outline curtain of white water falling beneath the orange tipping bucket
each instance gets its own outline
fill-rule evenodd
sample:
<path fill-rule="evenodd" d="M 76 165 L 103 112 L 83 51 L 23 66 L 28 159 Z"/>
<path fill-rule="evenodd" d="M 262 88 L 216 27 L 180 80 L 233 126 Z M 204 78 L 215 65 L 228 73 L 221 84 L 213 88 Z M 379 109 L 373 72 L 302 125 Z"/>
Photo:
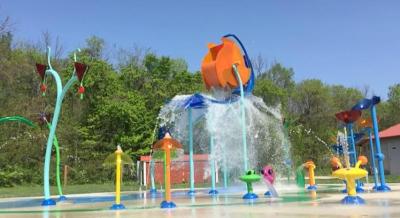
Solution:
<path fill-rule="evenodd" d="M 213 96 L 225 97 L 226 93 L 214 93 Z M 205 96 L 205 95 L 204 95 Z M 160 114 L 160 126 L 165 126 L 172 136 L 188 147 L 188 113 L 182 108 L 182 102 L 188 95 L 175 96 L 165 105 Z M 209 99 L 215 100 L 210 96 Z M 206 101 L 207 107 L 193 108 L 194 153 L 209 153 L 210 135 L 214 139 L 214 149 L 210 158 L 218 166 L 224 166 L 224 156 L 228 157 L 227 170 L 230 178 L 243 174 L 242 133 L 240 123 L 240 102 L 215 103 Z M 287 168 L 288 149 L 284 143 L 282 117 L 279 108 L 265 105 L 261 98 L 249 95 L 245 97 L 247 151 L 249 169 L 260 169 L 272 165 L 279 174 Z M 285 145 L 286 144 L 286 145 Z M 205 169 L 209 171 L 209 169 Z"/>

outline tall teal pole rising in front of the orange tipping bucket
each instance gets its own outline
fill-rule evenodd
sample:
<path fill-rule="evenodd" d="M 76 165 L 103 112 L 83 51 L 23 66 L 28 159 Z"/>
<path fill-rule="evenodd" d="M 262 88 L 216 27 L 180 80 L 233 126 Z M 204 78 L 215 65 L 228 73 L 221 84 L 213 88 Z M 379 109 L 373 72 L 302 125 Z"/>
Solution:
<path fill-rule="evenodd" d="M 236 65 L 232 65 L 233 71 L 235 72 L 236 79 L 239 81 L 240 86 L 240 111 L 241 111 L 241 121 L 242 121 L 242 143 L 243 143 L 243 163 L 244 163 L 244 170 L 247 172 L 247 133 L 246 133 L 246 111 L 244 108 L 244 91 L 243 91 L 243 84 L 242 79 L 240 78 L 238 69 Z"/>

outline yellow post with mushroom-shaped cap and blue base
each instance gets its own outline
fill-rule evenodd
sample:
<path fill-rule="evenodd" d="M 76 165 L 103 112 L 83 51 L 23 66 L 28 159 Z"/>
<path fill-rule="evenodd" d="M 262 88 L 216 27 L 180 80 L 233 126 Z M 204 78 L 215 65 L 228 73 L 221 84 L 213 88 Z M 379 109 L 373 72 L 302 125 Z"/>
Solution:
<path fill-rule="evenodd" d="M 105 166 L 115 166 L 115 203 L 111 206 L 112 210 L 122 210 L 125 206 L 121 203 L 121 181 L 122 181 L 122 166 L 133 165 L 132 159 L 126 155 L 121 146 L 117 146 L 117 150 L 110 154 L 104 160 Z"/>

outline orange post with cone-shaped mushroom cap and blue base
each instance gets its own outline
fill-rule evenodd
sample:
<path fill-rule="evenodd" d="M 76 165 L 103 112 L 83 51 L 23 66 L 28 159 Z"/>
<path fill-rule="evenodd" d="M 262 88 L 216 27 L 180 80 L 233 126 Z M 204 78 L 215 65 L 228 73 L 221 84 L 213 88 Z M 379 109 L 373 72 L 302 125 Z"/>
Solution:
<path fill-rule="evenodd" d="M 165 194 L 164 201 L 161 202 L 161 208 L 175 208 L 176 204 L 171 200 L 171 152 L 182 149 L 182 145 L 167 133 L 163 139 L 154 144 L 153 148 L 156 151 L 163 151 Z"/>

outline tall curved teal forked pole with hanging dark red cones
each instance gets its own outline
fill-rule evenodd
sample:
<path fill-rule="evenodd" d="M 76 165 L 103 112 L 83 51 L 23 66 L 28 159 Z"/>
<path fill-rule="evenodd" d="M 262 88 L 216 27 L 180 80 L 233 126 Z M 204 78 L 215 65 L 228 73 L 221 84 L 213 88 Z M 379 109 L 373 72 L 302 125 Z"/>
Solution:
<path fill-rule="evenodd" d="M 46 144 L 44 176 L 43 176 L 43 184 L 44 184 L 44 186 L 43 186 L 44 187 L 44 200 L 42 202 L 43 206 L 49 206 L 49 205 L 56 204 L 56 202 L 50 198 L 50 176 L 49 176 L 49 173 L 50 173 L 50 159 L 51 159 L 51 150 L 52 150 L 51 147 L 52 147 L 54 136 L 56 133 L 56 128 L 57 128 L 58 119 L 60 116 L 62 101 L 64 99 L 66 92 L 69 90 L 69 88 L 71 88 L 71 86 L 75 82 L 80 83 L 78 93 L 80 94 L 81 99 L 83 98 L 83 93 L 85 91 L 85 89 L 83 88 L 83 78 L 84 78 L 85 73 L 89 69 L 89 67 L 87 65 L 77 62 L 76 55 L 74 54 L 74 59 L 75 59 L 74 60 L 75 61 L 74 72 L 72 73 L 72 76 L 68 80 L 66 85 L 63 87 L 59 74 L 51 66 L 50 55 L 51 55 L 51 49 L 50 49 L 50 47 L 48 47 L 47 48 L 47 64 L 48 65 L 36 63 L 36 71 L 41 78 L 40 90 L 42 91 L 42 95 L 44 96 L 46 93 L 46 90 L 47 90 L 47 86 L 46 86 L 46 81 L 47 81 L 46 76 L 47 75 L 51 75 L 54 78 L 54 80 L 56 82 L 56 86 L 57 86 L 57 97 L 56 97 L 56 104 L 55 104 L 55 108 L 54 108 L 54 115 L 53 115 L 53 119 L 51 122 L 51 129 L 50 129 L 49 137 L 48 137 L 47 144 Z M 65 199 L 65 198 L 62 198 L 62 199 Z"/>

